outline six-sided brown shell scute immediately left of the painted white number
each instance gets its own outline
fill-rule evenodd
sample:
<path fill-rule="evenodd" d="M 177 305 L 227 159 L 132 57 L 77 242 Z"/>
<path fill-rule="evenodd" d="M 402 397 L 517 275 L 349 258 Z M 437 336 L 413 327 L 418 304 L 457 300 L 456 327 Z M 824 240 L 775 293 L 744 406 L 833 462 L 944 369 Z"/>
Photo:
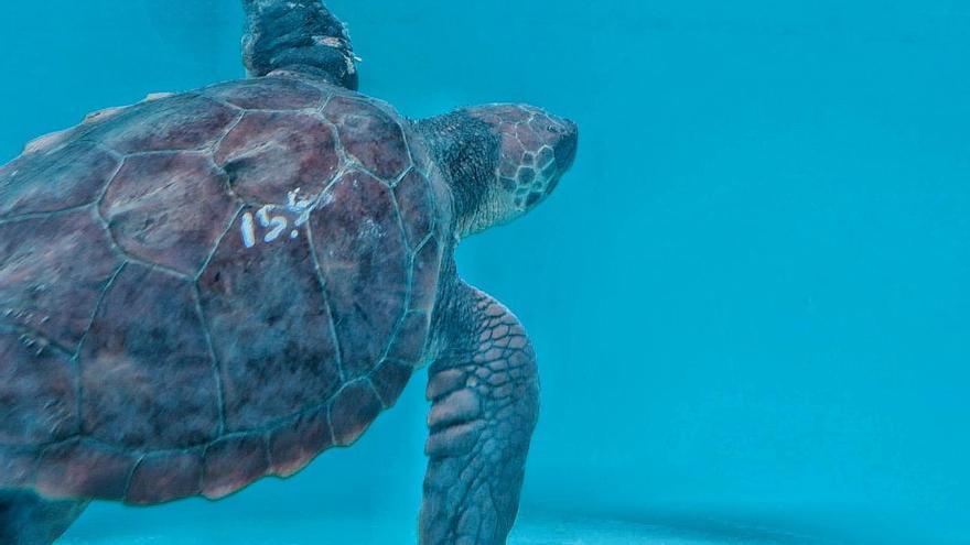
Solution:
<path fill-rule="evenodd" d="M 225 178 L 202 154 L 131 156 L 100 214 L 127 253 L 194 276 L 237 207 Z"/>

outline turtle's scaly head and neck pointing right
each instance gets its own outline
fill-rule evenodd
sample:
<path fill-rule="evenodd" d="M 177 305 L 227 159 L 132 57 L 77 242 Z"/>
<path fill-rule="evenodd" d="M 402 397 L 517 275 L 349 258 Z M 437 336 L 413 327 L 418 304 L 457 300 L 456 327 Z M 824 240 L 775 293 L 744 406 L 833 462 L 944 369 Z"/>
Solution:
<path fill-rule="evenodd" d="M 575 157 L 575 123 L 525 105 L 488 105 L 418 123 L 455 199 L 461 237 L 542 201 Z"/>

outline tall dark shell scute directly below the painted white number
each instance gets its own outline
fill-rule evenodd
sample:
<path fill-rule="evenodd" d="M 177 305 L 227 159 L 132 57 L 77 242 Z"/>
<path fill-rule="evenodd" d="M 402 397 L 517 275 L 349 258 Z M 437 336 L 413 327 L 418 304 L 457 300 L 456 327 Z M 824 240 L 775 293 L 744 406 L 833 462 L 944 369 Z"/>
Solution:
<path fill-rule="evenodd" d="M 290 416 L 341 385 L 308 237 L 298 232 L 247 248 L 245 221 L 245 215 L 236 220 L 198 279 L 229 430 Z"/>

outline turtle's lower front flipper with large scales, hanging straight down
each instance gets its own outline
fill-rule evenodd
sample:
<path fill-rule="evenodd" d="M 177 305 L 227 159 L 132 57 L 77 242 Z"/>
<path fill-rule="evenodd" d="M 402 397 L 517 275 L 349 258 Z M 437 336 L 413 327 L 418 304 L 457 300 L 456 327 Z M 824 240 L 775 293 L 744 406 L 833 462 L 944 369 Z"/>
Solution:
<path fill-rule="evenodd" d="M 421 545 L 504 545 L 539 414 L 536 356 L 518 319 L 459 284 L 429 370 Z"/>

